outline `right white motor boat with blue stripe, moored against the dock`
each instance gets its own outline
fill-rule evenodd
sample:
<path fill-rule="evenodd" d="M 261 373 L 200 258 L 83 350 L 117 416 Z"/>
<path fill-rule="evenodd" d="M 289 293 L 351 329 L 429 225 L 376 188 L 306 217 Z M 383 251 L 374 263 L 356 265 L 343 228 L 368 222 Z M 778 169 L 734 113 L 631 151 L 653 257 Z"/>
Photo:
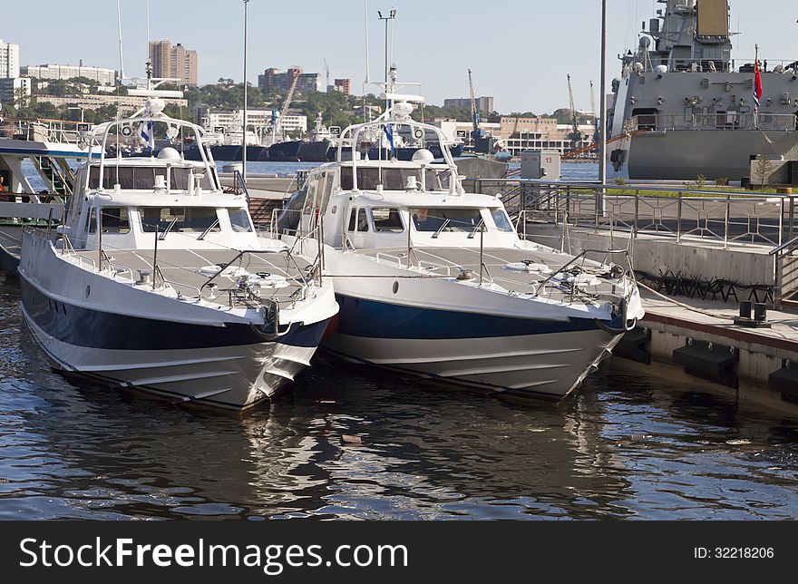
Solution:
<path fill-rule="evenodd" d="M 409 126 L 448 145 L 411 118 L 423 98 L 384 98 L 386 112 L 343 132 L 337 161 L 310 172 L 274 227 L 311 252 L 307 234 L 324 234 L 324 273 L 340 305 L 324 346 L 456 384 L 569 394 L 644 314 L 626 250 L 574 257 L 519 238 L 501 199 L 463 190 L 447 148 L 442 162 L 427 150 L 412 161 L 361 160 L 369 131 Z"/>

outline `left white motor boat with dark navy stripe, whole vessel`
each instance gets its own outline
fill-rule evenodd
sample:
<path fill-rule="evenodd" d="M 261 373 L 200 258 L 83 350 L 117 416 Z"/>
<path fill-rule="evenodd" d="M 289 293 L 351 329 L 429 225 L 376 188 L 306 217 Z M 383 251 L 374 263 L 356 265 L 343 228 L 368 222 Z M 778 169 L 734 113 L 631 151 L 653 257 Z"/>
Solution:
<path fill-rule="evenodd" d="M 157 92 L 153 92 L 155 94 Z M 337 305 L 313 258 L 261 239 L 202 143 L 151 96 L 92 134 L 63 227 L 25 228 L 24 318 L 55 365 L 177 401 L 248 408 L 309 365 Z M 99 158 L 92 156 L 99 152 Z"/>

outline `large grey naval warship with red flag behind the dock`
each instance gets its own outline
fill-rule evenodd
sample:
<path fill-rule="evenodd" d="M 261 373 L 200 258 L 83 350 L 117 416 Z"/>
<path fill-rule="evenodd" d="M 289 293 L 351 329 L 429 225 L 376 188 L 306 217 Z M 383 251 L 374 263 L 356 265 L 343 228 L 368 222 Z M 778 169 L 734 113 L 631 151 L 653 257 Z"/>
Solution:
<path fill-rule="evenodd" d="M 608 175 L 745 180 L 752 157 L 798 160 L 798 61 L 759 55 L 757 108 L 754 45 L 751 59 L 732 58 L 728 1 L 659 2 L 636 51 L 619 55 Z"/>

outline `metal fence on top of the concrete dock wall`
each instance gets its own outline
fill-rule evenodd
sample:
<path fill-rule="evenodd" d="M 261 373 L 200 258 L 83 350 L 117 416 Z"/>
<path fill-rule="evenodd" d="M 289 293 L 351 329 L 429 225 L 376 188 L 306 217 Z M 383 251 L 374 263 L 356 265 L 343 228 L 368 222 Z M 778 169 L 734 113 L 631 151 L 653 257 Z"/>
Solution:
<path fill-rule="evenodd" d="M 798 195 L 761 192 L 629 187 L 537 180 L 471 180 L 468 190 L 500 196 L 519 229 L 542 221 L 654 235 L 774 248 L 794 237 Z M 604 192 L 604 207 L 597 200 Z"/>

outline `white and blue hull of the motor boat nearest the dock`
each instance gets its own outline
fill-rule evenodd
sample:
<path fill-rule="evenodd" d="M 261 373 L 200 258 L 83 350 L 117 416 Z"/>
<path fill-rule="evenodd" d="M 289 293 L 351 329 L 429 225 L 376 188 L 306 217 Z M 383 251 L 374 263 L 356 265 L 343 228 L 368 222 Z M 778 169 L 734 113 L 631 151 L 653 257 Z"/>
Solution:
<path fill-rule="evenodd" d="M 597 326 L 595 319 L 606 316 L 584 305 L 511 297 L 453 278 L 412 277 L 390 261 L 333 248 L 325 257 L 340 311 L 336 334 L 323 347 L 355 363 L 560 399 L 621 338 Z"/>

